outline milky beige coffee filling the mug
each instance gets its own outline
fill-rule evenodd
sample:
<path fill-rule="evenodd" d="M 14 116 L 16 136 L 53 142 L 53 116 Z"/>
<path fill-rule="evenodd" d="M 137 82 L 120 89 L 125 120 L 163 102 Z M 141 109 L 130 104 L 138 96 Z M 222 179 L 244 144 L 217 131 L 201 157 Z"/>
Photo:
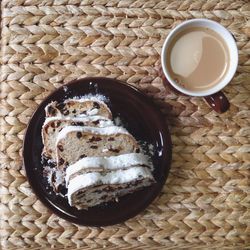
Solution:
<path fill-rule="evenodd" d="M 230 64 L 226 42 L 204 27 L 188 28 L 177 34 L 166 57 L 171 78 L 191 91 L 209 90 L 220 83 Z"/>

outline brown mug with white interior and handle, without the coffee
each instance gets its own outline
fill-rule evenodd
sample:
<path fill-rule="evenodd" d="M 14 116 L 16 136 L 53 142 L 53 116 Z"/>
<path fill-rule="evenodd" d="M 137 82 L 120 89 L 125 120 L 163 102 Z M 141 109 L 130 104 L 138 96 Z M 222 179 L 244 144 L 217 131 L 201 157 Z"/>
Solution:
<path fill-rule="evenodd" d="M 175 37 L 176 33 L 189 28 L 189 27 L 206 27 L 214 30 L 219 33 L 219 35 L 224 39 L 226 45 L 228 46 L 229 51 L 229 69 L 227 71 L 226 76 L 222 79 L 220 83 L 213 86 L 206 92 L 191 92 L 189 90 L 184 89 L 181 86 L 178 86 L 173 79 L 171 79 L 168 69 L 167 69 L 167 48 L 171 43 L 172 39 Z M 214 109 L 218 113 L 223 113 L 227 111 L 230 107 L 229 101 L 227 97 L 221 91 L 233 78 L 237 66 L 238 66 L 238 50 L 236 46 L 236 42 L 232 34 L 220 25 L 217 22 L 208 20 L 208 19 L 191 19 L 188 21 L 184 21 L 183 23 L 176 26 L 167 36 L 161 53 L 161 64 L 162 64 L 162 72 L 161 76 L 165 85 L 170 87 L 171 90 L 177 93 L 181 93 L 189 96 L 200 96 L 203 97 L 206 102 L 210 105 L 212 109 Z"/>

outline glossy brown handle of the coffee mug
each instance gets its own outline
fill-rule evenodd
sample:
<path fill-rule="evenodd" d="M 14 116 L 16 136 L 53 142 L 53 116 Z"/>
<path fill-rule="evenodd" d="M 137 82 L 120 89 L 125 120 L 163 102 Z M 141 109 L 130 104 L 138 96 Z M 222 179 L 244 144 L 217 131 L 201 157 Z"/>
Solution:
<path fill-rule="evenodd" d="M 204 99 L 206 100 L 208 105 L 218 113 L 224 113 L 230 107 L 230 103 L 222 91 L 209 96 L 205 96 Z"/>

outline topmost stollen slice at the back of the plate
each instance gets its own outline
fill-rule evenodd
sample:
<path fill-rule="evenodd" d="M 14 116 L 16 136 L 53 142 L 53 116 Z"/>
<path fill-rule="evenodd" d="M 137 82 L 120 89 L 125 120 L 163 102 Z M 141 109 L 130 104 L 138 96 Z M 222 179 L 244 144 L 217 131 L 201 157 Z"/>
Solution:
<path fill-rule="evenodd" d="M 98 99 L 68 99 L 51 102 L 45 108 L 46 117 L 100 115 L 112 119 L 108 106 Z"/>

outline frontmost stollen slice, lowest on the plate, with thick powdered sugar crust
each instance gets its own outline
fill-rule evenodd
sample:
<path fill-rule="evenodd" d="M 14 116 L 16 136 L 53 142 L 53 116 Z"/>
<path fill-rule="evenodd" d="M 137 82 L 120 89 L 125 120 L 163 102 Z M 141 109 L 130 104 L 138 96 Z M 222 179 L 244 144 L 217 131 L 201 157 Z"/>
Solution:
<path fill-rule="evenodd" d="M 151 171 L 135 166 L 103 175 L 93 172 L 78 175 L 68 184 L 68 202 L 78 209 L 87 209 L 138 191 L 155 182 Z"/>

